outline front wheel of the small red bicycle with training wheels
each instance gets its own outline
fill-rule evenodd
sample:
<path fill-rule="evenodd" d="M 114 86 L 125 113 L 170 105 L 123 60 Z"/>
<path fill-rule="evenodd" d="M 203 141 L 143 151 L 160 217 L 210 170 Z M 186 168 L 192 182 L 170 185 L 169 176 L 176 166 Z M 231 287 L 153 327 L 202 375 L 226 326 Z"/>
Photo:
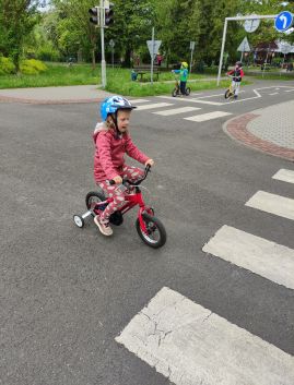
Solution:
<path fill-rule="evenodd" d="M 162 248 L 166 242 L 166 231 L 163 224 L 158 218 L 149 215 L 146 213 L 142 214 L 142 219 L 145 224 L 146 231 L 144 231 L 140 226 L 139 218 L 136 220 L 136 229 L 142 241 L 153 249 Z"/>

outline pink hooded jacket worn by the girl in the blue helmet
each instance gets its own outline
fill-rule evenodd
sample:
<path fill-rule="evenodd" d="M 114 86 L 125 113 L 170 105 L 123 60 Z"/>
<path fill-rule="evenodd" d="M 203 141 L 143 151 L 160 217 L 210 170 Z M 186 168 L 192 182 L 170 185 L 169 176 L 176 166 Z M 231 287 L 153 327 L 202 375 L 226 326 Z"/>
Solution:
<path fill-rule="evenodd" d="M 143 165 L 149 159 L 132 143 L 129 133 L 124 133 L 118 137 L 114 130 L 107 130 L 103 123 L 96 125 L 93 140 L 95 143 L 94 178 L 96 182 L 121 176 L 126 153 Z"/>

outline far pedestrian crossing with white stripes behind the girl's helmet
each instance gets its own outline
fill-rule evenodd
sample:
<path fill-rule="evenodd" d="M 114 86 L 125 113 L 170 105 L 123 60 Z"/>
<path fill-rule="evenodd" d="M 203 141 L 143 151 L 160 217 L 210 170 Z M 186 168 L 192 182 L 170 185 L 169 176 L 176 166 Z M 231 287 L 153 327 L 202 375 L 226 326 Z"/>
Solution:
<path fill-rule="evenodd" d="M 175 100 L 174 97 L 169 96 L 158 96 L 158 98 L 164 98 L 164 99 L 172 99 Z M 177 98 L 177 100 L 180 101 L 187 101 L 186 99 Z M 212 111 L 212 112 L 205 112 L 201 113 L 201 107 L 196 107 L 196 106 L 185 106 L 185 107 L 178 107 L 178 104 L 172 104 L 172 103 L 151 103 L 149 99 L 132 99 L 132 104 L 137 106 L 134 111 L 148 111 L 150 110 L 151 113 L 161 116 L 161 117 L 174 117 L 174 116 L 181 116 L 181 119 L 191 121 L 191 122 L 205 122 L 209 120 L 213 119 L 219 119 L 223 118 L 226 116 L 232 115 L 231 112 L 226 111 Z M 223 105 L 222 103 L 216 103 L 216 101 L 208 101 L 208 100 L 200 100 L 200 99 L 189 99 L 189 103 L 192 104 L 209 104 L 213 106 L 221 106 Z M 168 107 L 168 109 L 166 109 Z M 155 110 L 155 111 L 154 111 Z M 200 113 L 198 115 L 192 115 L 193 112 L 199 111 Z M 188 116 L 183 116 L 187 115 Z"/>

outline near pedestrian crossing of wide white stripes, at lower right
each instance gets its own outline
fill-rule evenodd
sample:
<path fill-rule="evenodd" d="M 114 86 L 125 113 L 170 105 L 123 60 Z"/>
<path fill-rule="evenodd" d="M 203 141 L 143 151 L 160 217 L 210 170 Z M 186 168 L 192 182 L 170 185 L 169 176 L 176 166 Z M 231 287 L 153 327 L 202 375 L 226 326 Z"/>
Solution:
<path fill-rule="evenodd" d="M 294 171 L 272 179 L 294 184 Z M 246 203 L 294 219 L 294 200 L 257 191 Z M 202 248 L 205 255 L 294 290 L 294 250 L 224 224 Z M 293 385 L 294 357 L 248 330 L 162 288 L 116 337 L 118 344 L 176 385 Z"/>

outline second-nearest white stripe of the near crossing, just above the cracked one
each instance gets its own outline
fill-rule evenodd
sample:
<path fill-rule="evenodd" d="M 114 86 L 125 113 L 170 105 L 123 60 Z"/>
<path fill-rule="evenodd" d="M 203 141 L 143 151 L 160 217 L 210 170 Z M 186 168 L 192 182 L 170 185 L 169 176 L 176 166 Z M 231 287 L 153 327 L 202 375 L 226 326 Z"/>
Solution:
<path fill-rule="evenodd" d="M 294 250 L 292 249 L 233 227 L 223 226 L 202 250 L 294 289 Z"/>

